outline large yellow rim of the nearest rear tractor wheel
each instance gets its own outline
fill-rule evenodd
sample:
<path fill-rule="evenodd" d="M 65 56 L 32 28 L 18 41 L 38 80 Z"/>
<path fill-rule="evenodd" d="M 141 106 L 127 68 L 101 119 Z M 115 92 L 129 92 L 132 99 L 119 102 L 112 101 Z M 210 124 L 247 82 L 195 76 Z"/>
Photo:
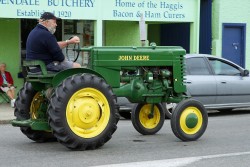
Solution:
<path fill-rule="evenodd" d="M 107 126 L 110 117 L 106 97 L 94 88 L 75 92 L 68 101 L 66 118 L 70 129 L 78 136 L 92 138 Z"/>

